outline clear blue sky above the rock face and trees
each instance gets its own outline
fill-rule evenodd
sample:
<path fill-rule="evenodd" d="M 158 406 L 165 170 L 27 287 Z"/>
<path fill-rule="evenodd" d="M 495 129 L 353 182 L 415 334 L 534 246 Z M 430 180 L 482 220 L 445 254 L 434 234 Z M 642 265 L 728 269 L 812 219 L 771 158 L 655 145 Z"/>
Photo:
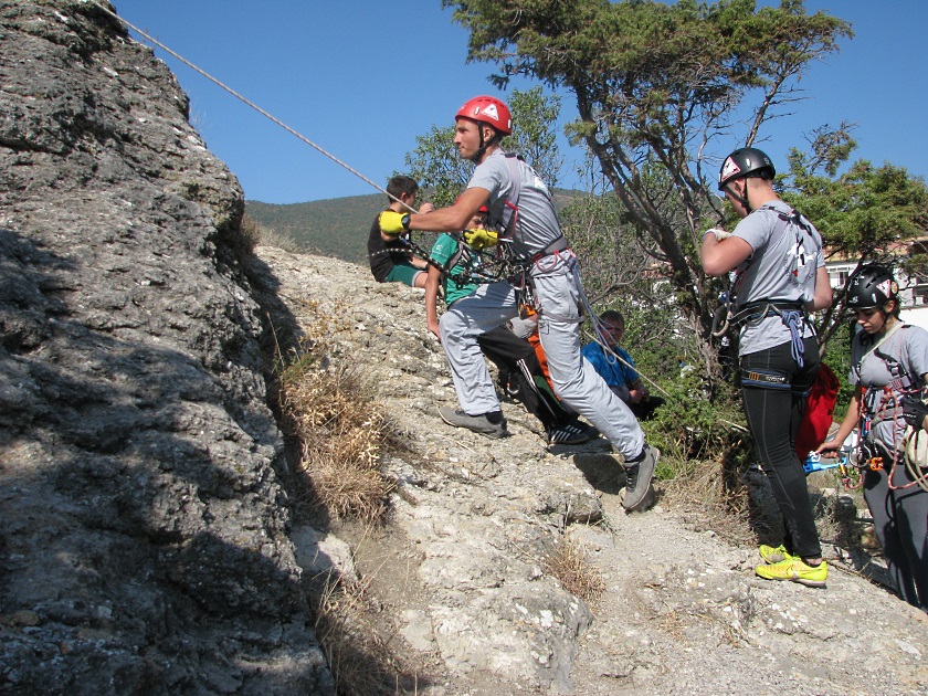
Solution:
<path fill-rule="evenodd" d="M 486 81 L 494 65 L 465 65 L 467 34 L 440 0 L 113 1 L 127 21 L 381 186 L 402 170 L 415 137 L 450 125 L 467 97 L 505 98 Z M 855 38 L 813 64 L 800 84 L 809 98 L 766 127 L 770 139 L 760 147 L 784 168 L 804 135 L 843 119 L 858 126 L 854 159 L 925 177 L 928 1 L 806 0 L 806 9 L 850 21 Z M 193 125 L 247 200 L 377 192 L 160 49 L 156 54 L 190 95 Z M 563 106 L 569 120 L 570 95 Z M 568 161 L 580 157 L 566 141 L 560 147 Z"/>

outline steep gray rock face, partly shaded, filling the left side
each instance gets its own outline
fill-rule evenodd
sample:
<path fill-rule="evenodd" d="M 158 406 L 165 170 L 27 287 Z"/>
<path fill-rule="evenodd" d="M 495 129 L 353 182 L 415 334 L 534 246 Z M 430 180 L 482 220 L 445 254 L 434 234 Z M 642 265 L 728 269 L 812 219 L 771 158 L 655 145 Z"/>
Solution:
<path fill-rule="evenodd" d="M 0 689 L 330 690 L 236 179 L 93 4 L 0 43 Z"/>

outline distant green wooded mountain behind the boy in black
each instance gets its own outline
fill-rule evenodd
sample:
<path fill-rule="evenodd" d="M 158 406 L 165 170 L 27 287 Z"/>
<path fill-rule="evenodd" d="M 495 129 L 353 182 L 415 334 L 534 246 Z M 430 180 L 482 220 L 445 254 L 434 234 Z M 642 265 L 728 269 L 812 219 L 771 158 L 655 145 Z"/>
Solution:
<path fill-rule="evenodd" d="M 558 212 L 577 193 L 555 189 Z M 383 193 L 286 205 L 246 201 L 245 212 L 264 226 L 292 236 L 304 251 L 363 265 L 370 225 L 386 203 Z"/>

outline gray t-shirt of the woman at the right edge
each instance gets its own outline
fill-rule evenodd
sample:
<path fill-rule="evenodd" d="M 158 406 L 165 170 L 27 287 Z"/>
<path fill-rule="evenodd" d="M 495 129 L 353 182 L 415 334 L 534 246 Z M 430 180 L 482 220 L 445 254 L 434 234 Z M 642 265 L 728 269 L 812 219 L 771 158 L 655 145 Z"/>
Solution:
<path fill-rule="evenodd" d="M 873 425 L 869 439 L 893 452 L 895 443 L 901 442 L 906 422 L 903 420 L 901 409 L 897 409 L 894 428 L 893 404 L 889 403 L 888 409 L 887 403 L 880 405 L 883 388 L 889 386 L 898 403 L 904 396 L 901 389 L 920 389 L 925 384 L 924 376 L 928 373 L 928 331 L 917 326 L 904 325 L 876 350 L 866 355 L 880 338 L 883 334 L 871 336 L 866 331 L 861 331 L 854 337 L 851 342 L 848 380 L 852 384 L 866 387 L 868 391 L 873 388 L 873 396 L 864 398 L 867 414 L 878 420 Z"/>

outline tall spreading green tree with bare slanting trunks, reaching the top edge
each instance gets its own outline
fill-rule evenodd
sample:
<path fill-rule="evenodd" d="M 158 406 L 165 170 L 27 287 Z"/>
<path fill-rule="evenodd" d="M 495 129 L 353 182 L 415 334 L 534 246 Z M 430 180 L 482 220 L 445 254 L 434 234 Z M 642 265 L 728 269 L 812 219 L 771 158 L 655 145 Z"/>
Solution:
<path fill-rule="evenodd" d="M 696 251 L 702 230 L 723 214 L 710 145 L 753 143 L 798 98 L 810 62 L 835 50 L 850 25 L 806 14 L 801 0 L 761 9 L 753 0 L 443 2 L 471 33 L 468 60 L 498 65 L 498 85 L 527 75 L 574 95 L 570 133 L 707 333 L 717 286 Z"/>

